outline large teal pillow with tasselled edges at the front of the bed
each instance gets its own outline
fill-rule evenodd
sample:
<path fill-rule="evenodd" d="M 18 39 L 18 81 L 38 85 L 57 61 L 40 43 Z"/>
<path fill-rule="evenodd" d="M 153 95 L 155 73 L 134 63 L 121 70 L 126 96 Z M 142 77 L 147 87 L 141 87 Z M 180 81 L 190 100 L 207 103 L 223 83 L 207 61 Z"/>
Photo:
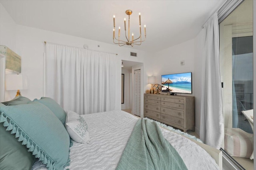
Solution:
<path fill-rule="evenodd" d="M 70 137 L 48 107 L 36 102 L 16 106 L 0 104 L 0 113 L 0 123 L 48 170 L 64 169 L 69 164 Z"/>

